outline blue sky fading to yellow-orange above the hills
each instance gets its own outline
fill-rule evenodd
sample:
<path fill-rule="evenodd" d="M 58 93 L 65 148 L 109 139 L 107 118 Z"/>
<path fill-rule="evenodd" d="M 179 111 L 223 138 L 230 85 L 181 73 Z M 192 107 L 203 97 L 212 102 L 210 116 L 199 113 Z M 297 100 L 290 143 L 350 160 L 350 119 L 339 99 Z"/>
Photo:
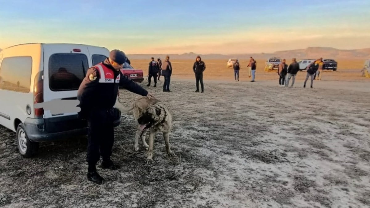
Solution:
<path fill-rule="evenodd" d="M 84 43 L 132 53 L 260 53 L 370 44 L 369 0 L 0 0 L 0 48 Z"/>

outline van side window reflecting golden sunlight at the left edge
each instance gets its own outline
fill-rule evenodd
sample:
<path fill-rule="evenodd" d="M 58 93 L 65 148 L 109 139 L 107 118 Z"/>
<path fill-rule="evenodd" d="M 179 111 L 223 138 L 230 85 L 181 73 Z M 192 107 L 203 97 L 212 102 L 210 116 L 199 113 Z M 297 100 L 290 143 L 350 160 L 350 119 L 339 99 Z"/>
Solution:
<path fill-rule="evenodd" d="M 0 67 L 0 89 L 22 93 L 30 91 L 32 57 L 3 58 Z"/>

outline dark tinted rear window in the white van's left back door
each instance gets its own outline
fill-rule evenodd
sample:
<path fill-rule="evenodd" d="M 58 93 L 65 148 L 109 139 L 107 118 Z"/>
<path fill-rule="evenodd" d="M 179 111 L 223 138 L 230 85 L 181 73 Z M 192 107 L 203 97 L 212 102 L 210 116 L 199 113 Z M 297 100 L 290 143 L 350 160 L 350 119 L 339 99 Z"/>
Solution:
<path fill-rule="evenodd" d="M 85 54 L 57 53 L 49 58 L 49 87 L 53 91 L 78 90 L 88 69 Z"/>

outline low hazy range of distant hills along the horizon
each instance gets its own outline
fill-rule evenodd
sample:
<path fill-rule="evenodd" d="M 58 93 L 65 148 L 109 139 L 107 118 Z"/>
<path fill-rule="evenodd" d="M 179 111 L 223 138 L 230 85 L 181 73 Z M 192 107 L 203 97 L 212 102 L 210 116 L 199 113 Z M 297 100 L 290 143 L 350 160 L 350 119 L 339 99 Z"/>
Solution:
<path fill-rule="evenodd" d="M 367 59 L 370 58 L 370 48 L 341 50 L 329 47 L 308 47 L 306 49 L 276 51 L 274 53 L 250 53 L 250 54 L 196 54 L 193 52 L 184 54 L 128 54 L 130 59 L 150 59 L 150 57 L 164 59 L 168 55 L 171 59 L 194 59 L 197 55 L 202 59 L 229 59 L 239 58 L 248 59 L 253 57 L 255 59 L 265 59 L 271 56 L 278 56 L 281 58 L 303 59 L 303 58 L 333 58 L 333 59 Z"/>

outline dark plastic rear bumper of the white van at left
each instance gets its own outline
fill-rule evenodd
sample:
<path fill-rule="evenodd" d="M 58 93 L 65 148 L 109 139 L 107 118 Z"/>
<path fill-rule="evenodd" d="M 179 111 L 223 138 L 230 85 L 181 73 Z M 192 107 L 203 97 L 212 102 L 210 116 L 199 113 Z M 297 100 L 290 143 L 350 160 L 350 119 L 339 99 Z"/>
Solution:
<path fill-rule="evenodd" d="M 87 121 L 78 115 L 55 118 L 27 118 L 24 122 L 29 140 L 34 142 L 63 140 L 87 135 Z"/>

